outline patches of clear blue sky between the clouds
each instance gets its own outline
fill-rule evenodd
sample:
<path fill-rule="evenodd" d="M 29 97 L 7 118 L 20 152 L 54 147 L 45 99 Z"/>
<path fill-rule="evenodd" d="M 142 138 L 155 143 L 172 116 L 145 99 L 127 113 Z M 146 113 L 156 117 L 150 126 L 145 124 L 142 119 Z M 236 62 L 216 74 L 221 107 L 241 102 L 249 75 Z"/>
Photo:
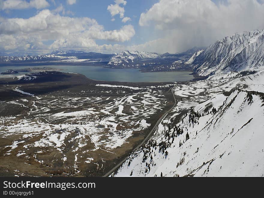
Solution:
<path fill-rule="evenodd" d="M 27 0 L 27 2 L 29 2 L 29 0 Z M 76 3 L 73 5 L 67 4 L 66 0 L 55 0 L 55 4 L 53 1 L 47 0 L 47 2 L 49 2 L 49 7 L 47 8 L 50 10 L 54 10 L 62 5 L 66 11 L 64 16 L 93 18 L 96 19 L 99 24 L 103 25 L 106 30 L 119 29 L 124 25 L 122 19 L 120 19 L 118 15 L 111 17 L 110 12 L 107 11 L 107 6 L 115 3 L 113 0 L 76 0 Z M 140 43 L 139 37 L 153 37 L 153 35 L 144 34 L 145 28 L 140 28 L 138 21 L 140 14 L 151 8 L 151 6 L 157 2 L 159 2 L 159 0 L 127 1 L 127 4 L 124 6 L 125 16 L 131 18 L 128 24 L 132 24 L 135 31 L 138 33 L 138 36 L 132 38 L 130 43 Z M 67 11 L 70 11 L 70 13 L 67 13 Z M 29 18 L 34 16 L 37 12 L 38 10 L 35 8 L 29 8 L 27 10 L 8 10 L 1 11 L 1 16 L 6 18 Z M 110 21 L 111 18 L 115 18 L 116 20 L 112 22 Z M 101 43 L 105 42 L 101 41 Z"/>

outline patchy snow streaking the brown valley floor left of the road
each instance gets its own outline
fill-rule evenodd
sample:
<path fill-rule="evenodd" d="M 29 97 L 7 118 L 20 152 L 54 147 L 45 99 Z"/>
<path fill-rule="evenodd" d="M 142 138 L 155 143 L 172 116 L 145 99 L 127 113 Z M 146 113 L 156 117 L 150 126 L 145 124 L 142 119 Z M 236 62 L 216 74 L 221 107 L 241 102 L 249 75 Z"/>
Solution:
<path fill-rule="evenodd" d="M 35 98 L 25 95 L 2 101 L 27 109 L 26 117 L 1 117 L 0 137 L 11 140 L 3 155 L 14 155 L 26 162 L 33 158 L 47 166 L 58 161 L 73 167 L 76 174 L 81 164 L 98 166 L 98 161 L 93 160 L 95 153 L 116 155 L 115 150 L 129 144 L 133 134 L 141 135 L 151 126 L 151 116 L 160 113 L 167 102 L 165 94 L 146 88 L 139 93 L 110 97 L 81 97 L 82 94 L 44 94 Z M 47 159 L 47 153 L 52 154 L 52 160 Z"/>

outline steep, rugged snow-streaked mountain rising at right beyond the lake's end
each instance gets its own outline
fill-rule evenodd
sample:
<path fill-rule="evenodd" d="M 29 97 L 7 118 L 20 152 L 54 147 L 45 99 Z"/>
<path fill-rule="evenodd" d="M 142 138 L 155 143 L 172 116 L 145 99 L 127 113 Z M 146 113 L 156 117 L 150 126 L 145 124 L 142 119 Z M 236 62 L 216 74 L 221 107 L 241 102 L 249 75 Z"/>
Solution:
<path fill-rule="evenodd" d="M 241 71 L 264 65 L 264 30 L 236 33 L 210 45 L 193 61 L 199 75 Z"/>

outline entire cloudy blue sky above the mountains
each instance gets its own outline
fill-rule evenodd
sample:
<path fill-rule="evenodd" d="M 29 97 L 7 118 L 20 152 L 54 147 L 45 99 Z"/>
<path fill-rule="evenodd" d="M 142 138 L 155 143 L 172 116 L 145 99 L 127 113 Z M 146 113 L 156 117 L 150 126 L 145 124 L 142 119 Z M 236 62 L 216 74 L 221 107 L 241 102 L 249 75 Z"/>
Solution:
<path fill-rule="evenodd" d="M 264 0 L 0 0 L 0 52 L 180 53 L 264 29 Z"/>

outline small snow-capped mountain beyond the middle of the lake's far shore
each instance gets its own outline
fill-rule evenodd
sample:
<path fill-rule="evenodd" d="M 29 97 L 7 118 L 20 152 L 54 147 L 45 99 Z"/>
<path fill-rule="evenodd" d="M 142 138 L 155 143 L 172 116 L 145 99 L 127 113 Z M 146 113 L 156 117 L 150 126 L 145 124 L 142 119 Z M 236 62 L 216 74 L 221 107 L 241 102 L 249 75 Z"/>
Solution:
<path fill-rule="evenodd" d="M 131 62 L 137 62 L 143 59 L 154 59 L 158 58 L 160 55 L 158 53 L 150 53 L 150 52 L 138 52 L 133 51 L 129 52 L 128 50 L 125 50 L 116 56 L 113 56 L 110 61 L 109 65 L 119 65 L 123 63 L 131 63 Z"/>

